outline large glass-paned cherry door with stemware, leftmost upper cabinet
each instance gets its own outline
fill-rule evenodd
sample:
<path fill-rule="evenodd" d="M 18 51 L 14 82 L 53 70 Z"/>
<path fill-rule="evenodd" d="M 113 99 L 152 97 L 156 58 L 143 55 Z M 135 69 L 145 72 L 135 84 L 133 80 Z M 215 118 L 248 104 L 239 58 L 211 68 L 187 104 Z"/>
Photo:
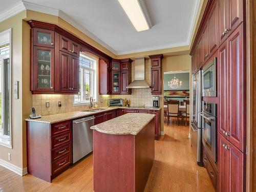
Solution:
<path fill-rule="evenodd" d="M 31 91 L 54 91 L 54 49 L 34 46 L 34 82 Z"/>

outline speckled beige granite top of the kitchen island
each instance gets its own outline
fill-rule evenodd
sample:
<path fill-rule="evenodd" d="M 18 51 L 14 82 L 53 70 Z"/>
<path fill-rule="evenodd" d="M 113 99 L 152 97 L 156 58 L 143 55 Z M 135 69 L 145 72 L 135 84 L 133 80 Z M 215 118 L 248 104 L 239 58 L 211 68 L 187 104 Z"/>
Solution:
<path fill-rule="evenodd" d="M 91 129 L 111 135 L 137 135 L 154 117 L 147 113 L 127 113 L 94 125 Z"/>

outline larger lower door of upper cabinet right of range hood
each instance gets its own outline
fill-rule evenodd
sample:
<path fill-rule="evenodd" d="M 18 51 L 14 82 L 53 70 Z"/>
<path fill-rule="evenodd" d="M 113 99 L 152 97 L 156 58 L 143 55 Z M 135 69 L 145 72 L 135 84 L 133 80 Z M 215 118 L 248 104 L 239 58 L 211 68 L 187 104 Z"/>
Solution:
<path fill-rule="evenodd" d="M 161 94 L 161 68 L 151 69 L 151 93 Z"/>

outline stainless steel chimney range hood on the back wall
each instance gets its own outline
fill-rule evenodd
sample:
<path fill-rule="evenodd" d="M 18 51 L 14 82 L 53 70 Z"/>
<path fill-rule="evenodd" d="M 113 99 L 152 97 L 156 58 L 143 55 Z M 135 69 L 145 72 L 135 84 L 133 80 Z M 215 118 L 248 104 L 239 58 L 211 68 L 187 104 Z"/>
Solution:
<path fill-rule="evenodd" d="M 145 81 L 145 58 L 135 59 L 135 80 L 130 83 L 127 89 L 145 89 L 150 88 L 150 85 Z"/>

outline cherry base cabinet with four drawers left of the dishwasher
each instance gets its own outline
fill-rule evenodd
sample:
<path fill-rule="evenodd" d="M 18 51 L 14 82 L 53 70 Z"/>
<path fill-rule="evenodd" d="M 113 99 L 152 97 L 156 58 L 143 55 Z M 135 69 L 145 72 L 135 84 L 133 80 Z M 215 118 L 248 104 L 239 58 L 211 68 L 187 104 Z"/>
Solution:
<path fill-rule="evenodd" d="M 72 122 L 27 121 L 28 173 L 51 182 L 72 164 Z"/>

